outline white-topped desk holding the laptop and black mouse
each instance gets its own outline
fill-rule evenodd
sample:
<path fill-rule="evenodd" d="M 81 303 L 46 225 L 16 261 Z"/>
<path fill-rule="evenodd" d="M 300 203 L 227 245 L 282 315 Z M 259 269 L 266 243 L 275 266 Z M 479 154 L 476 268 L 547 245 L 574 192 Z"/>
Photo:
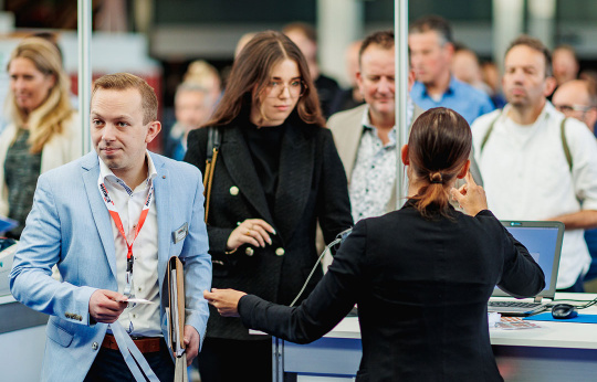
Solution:
<path fill-rule="evenodd" d="M 590 300 L 597 295 L 557 294 Z M 597 315 L 594 306 L 580 314 Z M 490 330 L 500 372 L 507 382 L 597 381 L 597 325 L 534 321 L 541 328 Z M 295 344 L 273 338 L 274 381 L 295 373 L 298 382 L 354 381 L 362 356 L 356 317 L 345 318 L 322 339 Z"/>

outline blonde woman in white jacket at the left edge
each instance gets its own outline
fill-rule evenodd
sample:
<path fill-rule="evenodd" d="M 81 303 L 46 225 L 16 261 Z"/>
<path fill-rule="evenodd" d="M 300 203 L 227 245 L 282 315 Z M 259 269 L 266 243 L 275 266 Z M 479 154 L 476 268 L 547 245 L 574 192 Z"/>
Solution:
<path fill-rule="evenodd" d="M 11 53 L 7 71 L 10 123 L 0 136 L 0 215 L 19 222 L 7 233 L 19 238 L 38 177 L 78 158 L 82 138 L 69 96 L 69 77 L 51 42 L 24 39 Z"/>

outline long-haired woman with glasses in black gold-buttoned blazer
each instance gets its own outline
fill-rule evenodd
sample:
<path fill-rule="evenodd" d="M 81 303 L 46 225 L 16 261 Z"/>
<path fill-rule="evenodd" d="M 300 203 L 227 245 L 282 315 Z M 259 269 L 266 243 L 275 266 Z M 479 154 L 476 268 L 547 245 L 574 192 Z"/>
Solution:
<path fill-rule="evenodd" d="M 258 33 L 206 124 L 221 136 L 207 222 L 213 287 L 290 304 L 317 262 L 317 222 L 327 243 L 352 226 L 346 176 L 324 123 L 301 51 L 279 32 Z M 185 160 L 201 171 L 209 128 L 188 137 Z M 303 298 L 322 276 L 320 268 Z M 271 380 L 271 339 L 213 310 L 199 371 L 203 382 Z"/>

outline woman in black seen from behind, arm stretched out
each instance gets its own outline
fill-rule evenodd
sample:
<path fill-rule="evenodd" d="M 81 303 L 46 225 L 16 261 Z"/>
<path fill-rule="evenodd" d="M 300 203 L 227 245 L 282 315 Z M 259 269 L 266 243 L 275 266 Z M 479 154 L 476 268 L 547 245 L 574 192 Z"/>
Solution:
<path fill-rule="evenodd" d="M 357 381 L 502 381 L 486 303 L 495 285 L 528 297 L 545 286 L 526 248 L 486 209 L 468 172 L 471 131 L 455 112 L 422 114 L 402 148 L 405 206 L 356 224 L 327 274 L 297 308 L 244 293 L 203 295 L 223 316 L 294 342 L 329 331 L 358 304 Z M 453 188 L 457 178 L 467 184 Z M 449 203 L 451 192 L 467 214 Z"/>

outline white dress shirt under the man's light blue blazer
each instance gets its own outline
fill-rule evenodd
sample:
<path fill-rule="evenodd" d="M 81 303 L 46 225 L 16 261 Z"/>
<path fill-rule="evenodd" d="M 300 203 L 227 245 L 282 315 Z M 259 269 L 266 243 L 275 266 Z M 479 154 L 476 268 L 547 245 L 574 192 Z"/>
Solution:
<path fill-rule="evenodd" d="M 135 237 L 135 229 L 139 221 L 143 205 L 147 199 L 149 188 L 157 176 L 151 157 L 147 153 L 148 176 L 147 179 L 130 190 L 126 183 L 117 178 L 111 169 L 100 159 L 100 179 L 104 181 L 111 199 L 118 214 L 125 233 L 130 243 Z M 154 194 L 155 198 L 155 194 Z M 114 234 L 114 245 L 116 248 L 116 278 L 118 282 L 118 293 L 124 294 L 126 286 L 126 255 L 128 247 L 126 241 L 121 235 L 114 220 L 112 220 L 112 233 Z M 132 296 L 145 298 L 155 304 L 138 304 L 126 308 L 118 322 L 129 331 L 132 336 L 161 337 L 159 325 L 159 282 L 158 282 L 158 225 L 155 200 L 149 208 L 149 213 L 145 220 L 137 238 L 133 244 L 133 283 Z"/>

